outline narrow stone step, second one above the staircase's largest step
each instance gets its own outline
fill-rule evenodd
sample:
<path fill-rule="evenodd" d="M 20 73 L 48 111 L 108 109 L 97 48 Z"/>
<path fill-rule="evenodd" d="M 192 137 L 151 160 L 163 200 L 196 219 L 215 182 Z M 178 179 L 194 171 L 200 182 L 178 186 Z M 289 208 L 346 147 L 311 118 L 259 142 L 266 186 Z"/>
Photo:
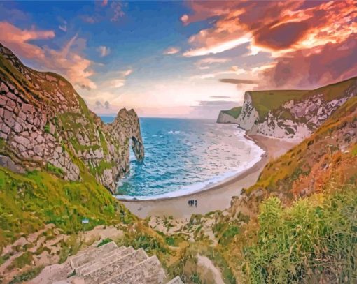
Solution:
<path fill-rule="evenodd" d="M 100 260 L 95 260 L 93 262 L 89 262 L 88 264 L 84 264 L 78 270 L 76 270 L 77 274 L 86 275 L 90 274 L 90 272 L 105 267 L 111 262 L 115 262 L 116 260 L 120 260 L 120 258 L 125 257 L 125 255 L 129 255 L 130 253 L 134 253 L 134 248 L 130 246 L 129 248 L 123 247 L 123 250 L 116 250 L 113 253 L 107 254 Z"/>

